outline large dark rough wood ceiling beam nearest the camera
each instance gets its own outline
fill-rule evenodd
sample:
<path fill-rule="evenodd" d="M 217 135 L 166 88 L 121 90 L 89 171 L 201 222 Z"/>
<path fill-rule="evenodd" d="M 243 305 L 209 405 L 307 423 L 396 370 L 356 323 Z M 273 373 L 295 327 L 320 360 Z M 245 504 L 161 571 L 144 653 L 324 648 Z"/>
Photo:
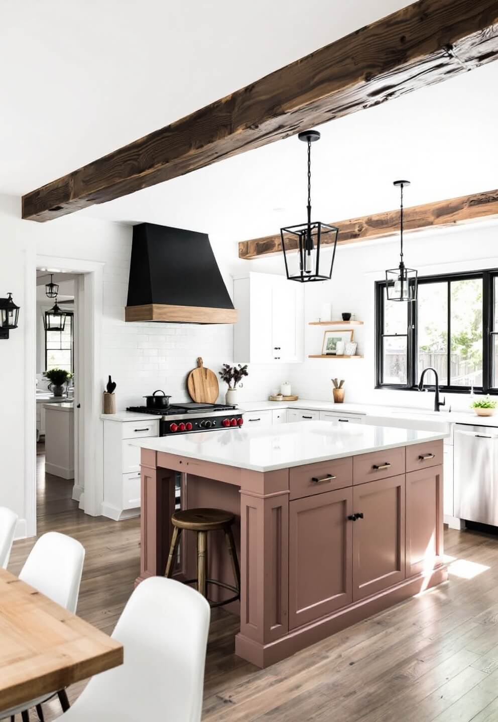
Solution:
<path fill-rule="evenodd" d="M 370 108 L 498 55 L 498 0 L 419 0 L 22 198 L 46 221 Z"/>

